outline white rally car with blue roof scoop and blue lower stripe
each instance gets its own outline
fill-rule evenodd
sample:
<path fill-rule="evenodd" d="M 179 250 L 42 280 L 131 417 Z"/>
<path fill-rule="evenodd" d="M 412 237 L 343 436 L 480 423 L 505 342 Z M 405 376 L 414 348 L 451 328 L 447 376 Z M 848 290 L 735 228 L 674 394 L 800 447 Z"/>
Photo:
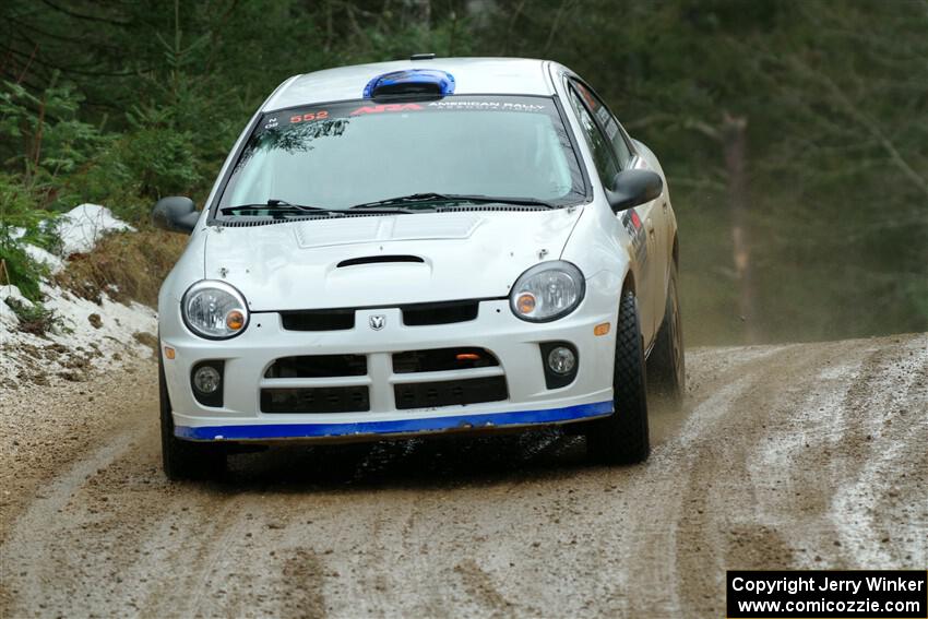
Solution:
<path fill-rule="evenodd" d="M 677 224 L 654 154 L 556 62 L 297 75 L 254 115 L 158 298 L 168 477 L 229 448 L 566 425 L 647 457 L 679 403 Z"/>

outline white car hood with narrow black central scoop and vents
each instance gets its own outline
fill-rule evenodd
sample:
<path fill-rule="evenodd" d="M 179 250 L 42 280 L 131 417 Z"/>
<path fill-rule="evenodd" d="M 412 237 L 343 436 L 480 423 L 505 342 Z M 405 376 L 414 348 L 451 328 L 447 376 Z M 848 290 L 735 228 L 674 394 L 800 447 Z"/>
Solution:
<path fill-rule="evenodd" d="M 207 227 L 205 276 L 252 311 L 498 298 L 556 260 L 583 209 L 465 211 Z"/>

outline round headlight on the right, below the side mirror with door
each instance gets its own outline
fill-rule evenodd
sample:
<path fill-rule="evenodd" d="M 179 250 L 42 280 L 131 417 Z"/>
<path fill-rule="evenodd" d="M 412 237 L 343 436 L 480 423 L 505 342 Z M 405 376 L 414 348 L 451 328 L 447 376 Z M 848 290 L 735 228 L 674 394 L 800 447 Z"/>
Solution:
<path fill-rule="evenodd" d="M 519 276 L 509 306 L 522 320 L 548 322 L 576 309 L 585 286 L 583 273 L 570 262 L 543 262 Z"/>

